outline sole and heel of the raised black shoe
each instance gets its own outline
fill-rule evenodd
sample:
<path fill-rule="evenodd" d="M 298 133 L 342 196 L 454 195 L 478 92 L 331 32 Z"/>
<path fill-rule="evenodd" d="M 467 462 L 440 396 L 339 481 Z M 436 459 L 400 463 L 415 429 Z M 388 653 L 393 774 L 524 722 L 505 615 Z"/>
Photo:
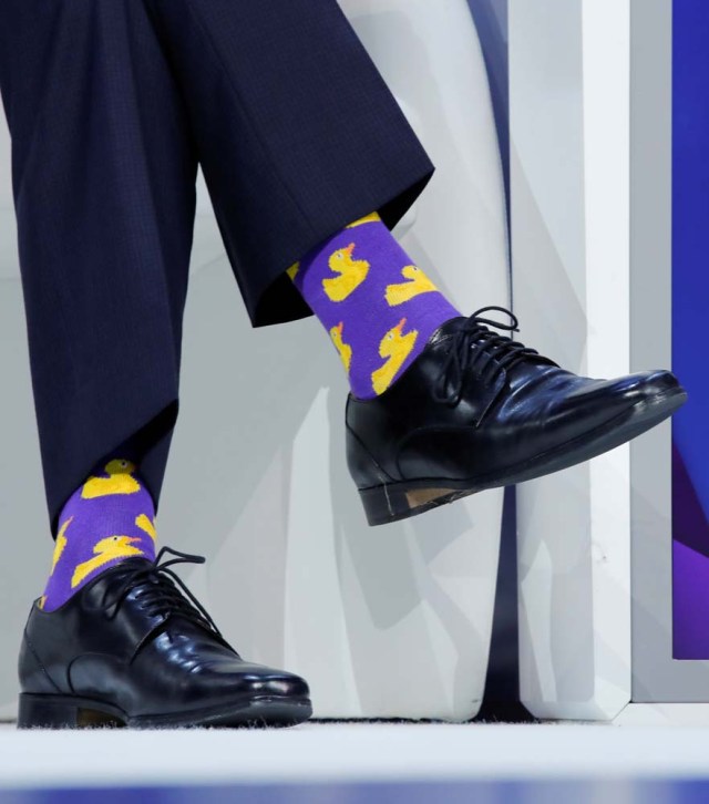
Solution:
<path fill-rule="evenodd" d="M 615 419 L 572 441 L 487 475 L 462 481 L 421 478 L 361 488 L 359 494 L 367 522 L 370 525 L 386 525 L 408 519 L 477 492 L 512 486 L 561 472 L 651 430 L 671 416 L 686 401 L 687 392 L 681 388 L 641 400 Z"/>

